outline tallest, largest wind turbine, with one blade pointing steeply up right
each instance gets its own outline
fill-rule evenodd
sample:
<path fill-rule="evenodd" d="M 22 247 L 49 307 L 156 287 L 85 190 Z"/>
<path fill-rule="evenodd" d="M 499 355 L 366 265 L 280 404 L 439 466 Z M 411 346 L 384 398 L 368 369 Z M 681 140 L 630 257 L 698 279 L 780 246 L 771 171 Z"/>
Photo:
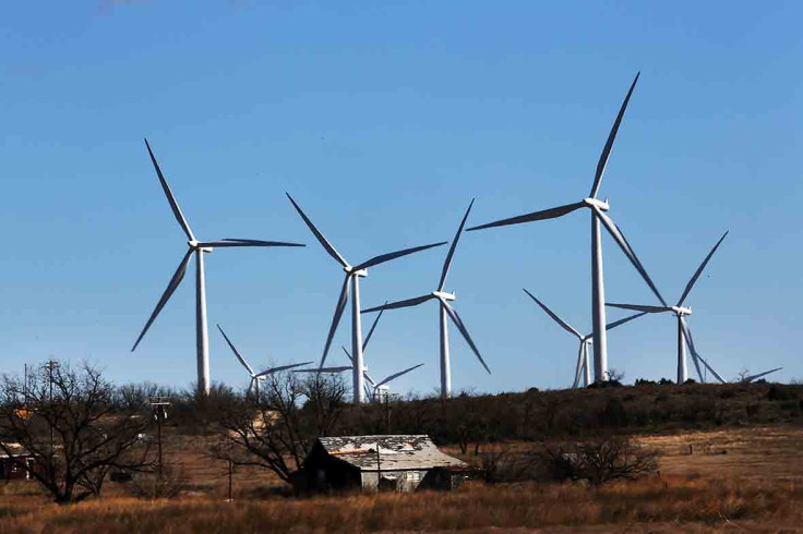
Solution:
<path fill-rule="evenodd" d="M 642 275 L 642 278 L 647 282 L 652 292 L 658 296 L 661 304 L 667 305 L 663 298 L 656 289 L 649 275 L 642 266 L 638 257 L 631 247 L 630 243 L 625 239 L 622 231 L 611 220 L 604 211 L 608 211 L 609 204 L 597 198 L 599 187 L 602 184 L 602 174 L 604 174 L 606 166 L 608 165 L 608 158 L 611 155 L 611 148 L 613 142 L 616 138 L 619 132 L 619 125 L 624 117 L 625 109 L 627 109 L 627 102 L 630 102 L 633 89 L 636 87 L 638 76 L 636 74 L 633 84 L 631 85 L 627 96 L 622 102 L 622 107 L 619 110 L 616 120 L 613 122 L 611 133 L 608 135 L 608 141 L 602 148 L 599 161 L 597 162 L 597 171 L 594 177 L 594 185 L 591 185 L 591 193 L 587 198 L 574 204 L 566 204 L 565 206 L 558 206 L 550 209 L 543 209 L 540 211 L 534 211 L 531 214 L 522 215 L 518 217 L 512 217 L 510 219 L 503 219 L 495 222 L 489 222 L 487 224 L 480 224 L 478 227 L 469 228 L 466 231 L 481 230 L 484 228 L 503 227 L 507 224 L 519 224 L 522 222 L 531 222 L 536 220 L 554 219 L 564 215 L 571 214 L 576 209 L 588 208 L 591 210 L 591 317 L 594 319 L 594 375 L 595 380 L 601 381 L 607 379 L 608 375 L 608 340 L 606 336 L 606 292 L 602 276 L 602 234 L 600 230 L 600 222 L 606 227 L 606 230 L 611 234 L 616 244 L 622 248 L 627 259 L 633 264 L 636 270 Z"/>

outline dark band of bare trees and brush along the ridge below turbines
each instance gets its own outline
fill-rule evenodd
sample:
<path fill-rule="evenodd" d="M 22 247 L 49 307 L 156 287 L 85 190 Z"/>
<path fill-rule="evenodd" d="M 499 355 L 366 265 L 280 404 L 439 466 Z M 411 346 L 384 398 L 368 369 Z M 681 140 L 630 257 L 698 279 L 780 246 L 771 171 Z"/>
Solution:
<path fill-rule="evenodd" d="M 570 449 L 575 456 L 627 449 L 598 439 L 604 436 L 803 421 L 798 385 L 637 384 L 448 400 L 388 397 L 353 406 L 337 375 L 285 372 L 267 376 L 259 391 L 218 384 L 199 395 L 154 384 L 118 387 L 88 363 L 47 362 L 0 380 L 0 449 L 34 456 L 33 466 L 21 466 L 53 501 L 68 503 L 99 495 L 110 474 L 165 476 L 154 442 L 155 397 L 170 399 L 166 424 L 203 437 L 211 458 L 257 465 L 285 482 L 319 436 L 427 434 L 475 456 L 489 444 L 525 441 L 547 444 L 542 452 L 560 451 L 551 454 L 560 460 Z M 585 445 L 549 445 L 555 442 Z"/>

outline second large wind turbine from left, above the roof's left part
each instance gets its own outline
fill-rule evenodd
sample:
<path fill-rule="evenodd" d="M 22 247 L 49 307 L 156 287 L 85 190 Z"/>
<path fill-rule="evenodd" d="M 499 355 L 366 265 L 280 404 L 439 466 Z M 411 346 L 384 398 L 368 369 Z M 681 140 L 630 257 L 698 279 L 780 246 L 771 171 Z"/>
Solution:
<path fill-rule="evenodd" d="M 363 375 L 362 375 L 362 367 L 363 360 L 362 360 L 362 324 L 360 321 L 360 278 L 368 276 L 368 268 L 373 267 L 375 265 L 383 264 L 385 262 L 389 262 L 391 259 L 396 259 L 402 256 L 407 256 L 408 254 L 412 254 L 420 251 L 426 251 L 427 248 L 432 248 L 433 246 L 441 246 L 446 244 L 446 242 L 441 243 L 432 243 L 429 245 L 422 245 L 422 246 L 414 246 L 412 248 L 405 248 L 402 251 L 391 252 L 387 254 L 381 254 L 379 256 L 374 256 L 371 259 L 363 262 L 357 266 L 351 266 L 344 257 L 335 250 L 334 246 L 324 238 L 323 233 L 321 233 L 317 228 L 312 223 L 312 221 L 304 215 L 304 213 L 301 210 L 298 204 L 296 204 L 296 201 L 292 199 L 292 197 L 289 195 L 289 193 L 285 193 L 287 195 L 287 198 L 290 199 L 292 203 L 292 206 L 296 208 L 296 211 L 301 216 L 301 218 L 304 220 L 309 229 L 312 231 L 312 233 L 315 235 L 317 241 L 321 243 L 321 245 L 324 247 L 324 250 L 335 258 L 337 263 L 339 263 L 343 266 L 343 270 L 346 272 L 345 280 L 343 282 L 343 288 L 340 289 L 340 295 L 337 298 L 337 305 L 335 306 L 335 315 L 332 317 L 332 326 L 329 327 L 329 333 L 326 337 L 326 344 L 323 348 L 323 356 L 321 357 L 321 367 L 323 367 L 324 362 L 326 361 L 326 354 L 329 351 L 329 345 L 332 344 L 332 338 L 335 336 L 335 330 L 337 330 L 337 325 L 340 323 L 340 317 L 343 316 L 343 312 L 346 308 L 346 303 L 348 301 L 348 293 L 349 293 L 349 286 L 351 291 L 353 292 L 353 296 L 351 299 L 351 353 L 355 356 L 355 365 L 353 365 L 353 396 L 355 396 L 355 403 L 362 402 L 363 399 Z"/>

